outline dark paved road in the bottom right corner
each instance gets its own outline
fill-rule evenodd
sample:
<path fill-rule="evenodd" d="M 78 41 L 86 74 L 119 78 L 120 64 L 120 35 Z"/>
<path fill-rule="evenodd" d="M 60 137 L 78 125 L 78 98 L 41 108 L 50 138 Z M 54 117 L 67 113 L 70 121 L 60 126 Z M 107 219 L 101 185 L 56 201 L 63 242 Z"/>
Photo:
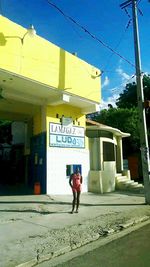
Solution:
<path fill-rule="evenodd" d="M 42 266 L 51 266 L 43 263 Z M 149 267 L 150 224 L 57 267 Z"/>

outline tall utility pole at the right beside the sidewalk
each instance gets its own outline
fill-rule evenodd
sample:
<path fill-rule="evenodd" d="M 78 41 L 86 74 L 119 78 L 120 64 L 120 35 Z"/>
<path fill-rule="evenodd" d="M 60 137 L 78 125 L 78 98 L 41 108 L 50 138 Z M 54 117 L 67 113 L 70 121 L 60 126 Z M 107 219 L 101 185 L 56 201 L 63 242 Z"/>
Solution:
<path fill-rule="evenodd" d="M 133 34 L 134 34 L 134 51 L 135 51 L 135 67 L 136 67 L 136 82 L 137 82 L 137 102 L 139 111 L 139 129 L 140 129 L 140 150 L 142 159 L 142 171 L 144 180 L 145 202 L 150 204 L 150 159 L 147 137 L 146 116 L 144 108 L 144 92 L 143 92 L 143 74 L 141 71 L 140 58 L 140 42 L 137 19 L 137 0 L 129 0 L 120 5 L 123 9 L 132 4 L 133 18 Z"/>

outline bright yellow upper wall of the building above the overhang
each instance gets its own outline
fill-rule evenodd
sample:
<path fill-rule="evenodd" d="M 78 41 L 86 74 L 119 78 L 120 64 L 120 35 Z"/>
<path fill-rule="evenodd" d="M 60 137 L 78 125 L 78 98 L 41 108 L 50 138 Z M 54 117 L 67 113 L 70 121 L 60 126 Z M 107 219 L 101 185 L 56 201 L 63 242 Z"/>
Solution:
<path fill-rule="evenodd" d="M 0 16 L 0 68 L 100 102 L 100 71 Z M 97 76 L 97 77 L 96 77 Z"/>

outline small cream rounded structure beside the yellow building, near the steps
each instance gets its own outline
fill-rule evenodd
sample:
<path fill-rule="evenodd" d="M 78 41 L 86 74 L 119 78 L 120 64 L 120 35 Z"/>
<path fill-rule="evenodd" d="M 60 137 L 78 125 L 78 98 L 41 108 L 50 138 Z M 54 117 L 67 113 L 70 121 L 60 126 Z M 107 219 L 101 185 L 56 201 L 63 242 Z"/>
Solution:
<path fill-rule="evenodd" d="M 123 170 L 122 148 L 122 138 L 130 134 L 87 119 L 86 136 L 89 138 L 90 150 L 88 191 L 112 192 L 118 174 L 124 174 L 130 179 L 130 171 Z"/>

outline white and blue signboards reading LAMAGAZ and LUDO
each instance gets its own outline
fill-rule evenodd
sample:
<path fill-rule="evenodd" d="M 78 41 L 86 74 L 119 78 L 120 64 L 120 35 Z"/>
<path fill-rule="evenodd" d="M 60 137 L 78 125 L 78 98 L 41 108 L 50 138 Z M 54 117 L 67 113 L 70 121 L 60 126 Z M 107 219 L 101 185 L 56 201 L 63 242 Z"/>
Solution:
<path fill-rule="evenodd" d="M 84 148 L 84 128 L 50 123 L 50 146 Z"/>

